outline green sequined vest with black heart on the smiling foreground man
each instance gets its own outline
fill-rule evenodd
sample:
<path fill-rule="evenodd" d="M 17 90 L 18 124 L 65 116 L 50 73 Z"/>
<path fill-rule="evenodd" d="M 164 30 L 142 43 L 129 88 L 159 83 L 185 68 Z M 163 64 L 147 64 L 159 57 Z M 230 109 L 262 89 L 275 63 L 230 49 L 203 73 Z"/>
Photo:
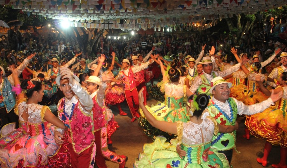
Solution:
<path fill-rule="evenodd" d="M 233 110 L 232 116 L 229 119 L 225 115 L 226 113 L 222 112 L 222 109 L 212 100 L 210 100 L 210 103 L 208 105 L 208 112 L 210 116 L 212 116 L 216 120 L 216 122 L 221 125 L 235 125 L 235 121 L 237 118 L 237 105 L 232 98 L 229 98 L 227 101 Z M 236 131 L 233 131 L 231 133 L 219 132 L 217 135 L 213 135 L 211 145 L 218 151 L 226 151 L 233 148 L 236 150 L 235 141 Z"/>

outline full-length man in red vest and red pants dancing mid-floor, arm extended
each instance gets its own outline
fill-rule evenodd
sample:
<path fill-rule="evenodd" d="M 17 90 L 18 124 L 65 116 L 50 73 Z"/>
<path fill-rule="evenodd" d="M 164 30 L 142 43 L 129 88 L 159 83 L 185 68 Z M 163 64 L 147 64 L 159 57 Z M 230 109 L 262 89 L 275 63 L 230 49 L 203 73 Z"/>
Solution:
<path fill-rule="evenodd" d="M 128 59 L 123 59 L 121 62 L 122 70 L 119 72 L 116 79 L 122 80 L 123 84 L 125 85 L 125 97 L 129 110 L 131 111 L 131 115 L 133 116 L 131 122 L 134 122 L 137 118 L 139 118 L 139 114 L 137 112 L 139 109 L 139 97 L 136 89 L 134 73 L 146 69 L 152 62 L 154 62 L 154 60 L 150 59 L 148 62 L 141 64 L 141 66 L 132 68 L 129 67 L 130 63 Z M 133 106 L 133 102 L 135 103 L 135 106 Z"/>

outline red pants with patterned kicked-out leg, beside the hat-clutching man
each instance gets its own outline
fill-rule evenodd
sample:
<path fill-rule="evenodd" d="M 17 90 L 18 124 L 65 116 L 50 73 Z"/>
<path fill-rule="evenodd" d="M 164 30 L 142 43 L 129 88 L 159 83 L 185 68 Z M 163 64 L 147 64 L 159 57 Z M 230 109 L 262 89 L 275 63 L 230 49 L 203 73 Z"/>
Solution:
<path fill-rule="evenodd" d="M 125 158 L 108 150 L 107 146 L 107 127 L 104 127 L 95 132 L 95 143 L 97 147 L 96 164 L 99 168 L 107 168 L 105 159 L 115 163 L 123 163 Z"/>

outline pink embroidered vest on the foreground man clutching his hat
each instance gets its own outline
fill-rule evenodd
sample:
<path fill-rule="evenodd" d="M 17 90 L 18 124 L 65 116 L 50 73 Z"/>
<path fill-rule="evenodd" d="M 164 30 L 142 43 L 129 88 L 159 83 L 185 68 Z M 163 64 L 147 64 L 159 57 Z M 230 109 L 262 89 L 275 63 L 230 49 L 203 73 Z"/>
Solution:
<path fill-rule="evenodd" d="M 80 154 L 92 146 L 95 141 L 94 122 L 91 115 L 83 112 L 79 101 L 75 104 L 73 115 L 71 119 L 69 119 L 69 117 L 64 114 L 64 99 L 65 97 L 58 103 L 58 115 L 65 126 L 69 128 L 68 131 L 65 132 L 68 137 L 68 142 L 73 145 L 74 152 Z"/>

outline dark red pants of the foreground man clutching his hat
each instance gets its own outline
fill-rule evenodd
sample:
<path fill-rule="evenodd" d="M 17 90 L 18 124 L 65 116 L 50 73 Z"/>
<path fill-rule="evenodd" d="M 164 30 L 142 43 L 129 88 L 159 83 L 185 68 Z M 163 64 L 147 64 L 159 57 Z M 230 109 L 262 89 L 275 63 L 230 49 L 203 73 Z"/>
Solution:
<path fill-rule="evenodd" d="M 91 147 L 86 149 L 80 154 L 75 153 L 72 144 L 68 144 L 69 152 L 71 155 L 72 167 L 83 167 L 83 168 L 93 168 L 94 159 L 96 153 L 96 145 L 93 144 Z"/>

